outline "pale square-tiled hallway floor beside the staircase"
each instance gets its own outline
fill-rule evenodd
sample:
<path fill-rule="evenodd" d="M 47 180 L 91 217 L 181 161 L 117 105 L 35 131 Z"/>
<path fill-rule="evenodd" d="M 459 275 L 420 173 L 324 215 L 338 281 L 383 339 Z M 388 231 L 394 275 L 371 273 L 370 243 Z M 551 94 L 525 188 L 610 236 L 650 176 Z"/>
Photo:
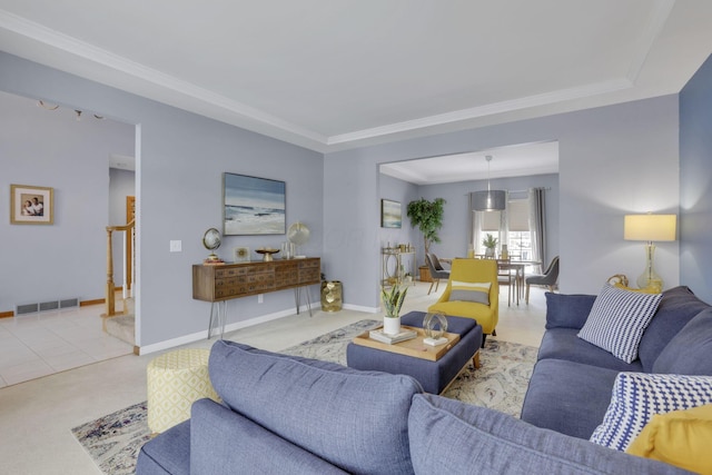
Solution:
<path fill-rule="evenodd" d="M 0 318 L 0 388 L 130 355 L 101 329 L 102 305 Z"/>

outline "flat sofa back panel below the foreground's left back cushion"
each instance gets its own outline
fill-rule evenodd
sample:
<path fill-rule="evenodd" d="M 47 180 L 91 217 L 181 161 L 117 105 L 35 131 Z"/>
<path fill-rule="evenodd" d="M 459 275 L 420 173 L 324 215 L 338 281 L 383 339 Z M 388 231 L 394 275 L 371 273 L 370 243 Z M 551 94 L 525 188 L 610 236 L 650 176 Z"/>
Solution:
<path fill-rule="evenodd" d="M 214 400 L 196 402 L 191 420 L 191 474 L 346 473 Z"/>

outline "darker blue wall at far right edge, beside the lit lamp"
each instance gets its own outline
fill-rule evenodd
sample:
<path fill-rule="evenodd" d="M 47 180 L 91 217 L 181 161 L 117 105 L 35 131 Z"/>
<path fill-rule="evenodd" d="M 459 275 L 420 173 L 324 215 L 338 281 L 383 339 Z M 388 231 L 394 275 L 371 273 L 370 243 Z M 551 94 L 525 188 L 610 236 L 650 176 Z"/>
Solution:
<path fill-rule="evenodd" d="M 712 303 L 712 57 L 680 93 L 680 281 Z"/>

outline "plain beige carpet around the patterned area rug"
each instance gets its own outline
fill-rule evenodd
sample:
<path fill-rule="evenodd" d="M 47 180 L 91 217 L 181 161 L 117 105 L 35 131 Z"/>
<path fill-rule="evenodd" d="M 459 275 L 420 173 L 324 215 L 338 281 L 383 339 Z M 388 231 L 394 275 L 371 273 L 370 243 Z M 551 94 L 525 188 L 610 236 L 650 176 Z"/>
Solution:
<path fill-rule="evenodd" d="M 424 283 L 412 287 L 404 310 L 427 308 L 444 289 L 441 286 L 437 294 L 427 296 L 428 287 Z M 380 317 L 354 310 L 315 311 L 314 317 L 303 313 L 233 331 L 226 338 L 280 350 L 350 323 Z M 543 289 L 532 289 L 528 306 L 507 307 L 504 294 L 493 338 L 538 346 L 544 321 Z M 207 348 L 214 342 L 188 346 Z M 0 388 L 0 474 L 100 474 L 70 429 L 146 400 L 146 366 L 156 356 L 120 356 Z"/>

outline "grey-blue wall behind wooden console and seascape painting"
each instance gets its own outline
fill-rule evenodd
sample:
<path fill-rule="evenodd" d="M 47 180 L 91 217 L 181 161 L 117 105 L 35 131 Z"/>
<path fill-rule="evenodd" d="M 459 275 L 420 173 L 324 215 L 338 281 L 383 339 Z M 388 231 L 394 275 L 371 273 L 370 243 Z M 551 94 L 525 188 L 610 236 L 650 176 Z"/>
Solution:
<path fill-rule="evenodd" d="M 136 149 L 137 257 L 140 263 L 136 301 L 138 345 L 189 339 L 192 338 L 191 335 L 207 329 L 210 305 L 192 299 L 190 268 L 207 255 L 201 245 L 205 230 L 209 227 L 221 228 L 224 171 L 285 180 L 287 222 L 300 220 L 309 226 L 313 239 L 303 248 L 303 254 L 319 255 L 323 246 L 320 237 L 324 236 L 320 154 L 7 53 L 0 53 L 0 90 L 99 111 L 107 117 L 139 126 L 137 140 L 140 145 Z M 131 155 L 132 150 L 123 154 Z M 80 167 L 72 167 L 65 170 L 65 174 L 76 174 L 78 169 Z M 105 178 L 100 184 L 86 186 L 102 187 L 106 196 L 106 166 L 103 172 Z M 53 182 L 58 179 L 56 175 L 57 172 L 51 176 Z M 14 182 L 16 177 L 7 180 Z M 49 177 L 42 181 L 50 181 Z M 108 209 L 106 199 L 105 197 L 101 205 L 105 210 Z M 7 216 L 4 222 L 8 222 Z M 47 227 L 44 237 L 32 244 L 53 243 L 59 232 L 66 232 L 77 240 L 90 232 L 102 235 L 106 218 L 92 229 L 72 225 L 70 222 L 63 229 Z M 182 241 L 182 253 L 169 253 L 171 239 Z M 255 249 L 260 246 L 279 246 L 284 240 L 284 235 L 226 237 L 218 255 L 230 259 L 233 247 L 248 246 Z M 97 246 L 100 253 L 105 251 L 102 239 L 98 239 Z M 257 258 L 257 255 L 253 254 L 253 257 Z M 67 260 L 66 266 L 73 263 Z M 46 263 L 32 257 L 31 264 L 39 268 Z M 326 263 L 327 268 L 329 264 Z M 98 285 L 101 286 L 103 280 L 98 278 Z M 315 287 L 312 291 L 315 301 L 318 288 Z M 264 304 L 258 304 L 256 297 L 233 300 L 228 305 L 228 325 L 289 308 L 294 308 L 291 291 L 268 294 Z"/>

